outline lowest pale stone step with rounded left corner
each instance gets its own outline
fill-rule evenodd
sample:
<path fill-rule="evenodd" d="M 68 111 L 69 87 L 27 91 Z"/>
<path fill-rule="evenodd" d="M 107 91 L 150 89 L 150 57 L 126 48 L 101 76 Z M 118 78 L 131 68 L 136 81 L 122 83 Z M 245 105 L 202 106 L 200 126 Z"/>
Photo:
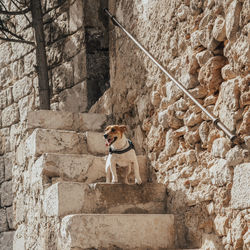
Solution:
<path fill-rule="evenodd" d="M 174 248 L 172 214 L 79 214 L 63 218 L 59 249 Z"/>

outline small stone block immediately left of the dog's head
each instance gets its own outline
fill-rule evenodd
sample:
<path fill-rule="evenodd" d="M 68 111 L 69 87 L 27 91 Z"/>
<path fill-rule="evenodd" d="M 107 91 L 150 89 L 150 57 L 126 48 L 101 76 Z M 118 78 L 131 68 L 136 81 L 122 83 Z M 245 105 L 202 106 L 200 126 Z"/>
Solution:
<path fill-rule="evenodd" d="M 103 133 L 86 132 L 88 152 L 94 155 L 107 155 L 108 147 L 105 145 Z"/>

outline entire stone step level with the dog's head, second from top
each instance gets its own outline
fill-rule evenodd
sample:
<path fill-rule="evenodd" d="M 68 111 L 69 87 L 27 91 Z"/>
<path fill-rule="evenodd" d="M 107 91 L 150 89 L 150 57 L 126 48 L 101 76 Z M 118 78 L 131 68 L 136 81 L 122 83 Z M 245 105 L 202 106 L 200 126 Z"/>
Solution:
<path fill-rule="evenodd" d="M 99 132 L 77 133 L 66 130 L 35 129 L 26 140 L 28 156 L 44 153 L 108 154 L 103 134 Z"/>

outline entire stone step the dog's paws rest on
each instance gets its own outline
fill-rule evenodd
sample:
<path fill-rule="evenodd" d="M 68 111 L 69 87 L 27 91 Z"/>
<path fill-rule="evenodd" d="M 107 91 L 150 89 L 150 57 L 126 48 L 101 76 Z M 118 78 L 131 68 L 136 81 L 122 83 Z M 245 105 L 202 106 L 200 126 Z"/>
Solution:
<path fill-rule="evenodd" d="M 58 182 L 45 190 L 47 216 L 76 213 L 165 213 L 162 184 L 84 184 Z"/>

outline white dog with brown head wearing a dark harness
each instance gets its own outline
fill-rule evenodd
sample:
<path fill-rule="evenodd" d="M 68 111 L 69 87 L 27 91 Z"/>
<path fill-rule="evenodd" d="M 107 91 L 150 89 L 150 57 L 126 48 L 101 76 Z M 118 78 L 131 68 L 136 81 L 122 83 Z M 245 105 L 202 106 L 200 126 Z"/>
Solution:
<path fill-rule="evenodd" d="M 107 126 L 104 133 L 106 146 L 109 146 L 109 155 L 106 161 L 106 183 L 117 183 L 116 167 L 127 167 L 125 183 L 129 184 L 128 176 L 131 168 L 134 168 L 135 184 L 141 184 L 139 164 L 134 150 L 133 143 L 125 136 L 127 130 L 125 125 Z M 111 181 L 112 175 L 112 181 Z"/>

